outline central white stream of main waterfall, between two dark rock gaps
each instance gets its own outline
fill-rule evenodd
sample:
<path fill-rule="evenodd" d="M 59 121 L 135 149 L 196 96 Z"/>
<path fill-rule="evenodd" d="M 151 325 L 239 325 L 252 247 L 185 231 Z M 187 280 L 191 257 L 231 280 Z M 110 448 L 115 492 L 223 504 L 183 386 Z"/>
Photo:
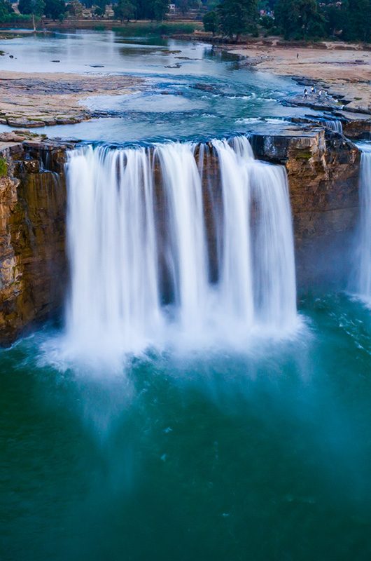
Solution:
<path fill-rule="evenodd" d="M 160 161 L 167 208 L 166 248 L 174 304 L 186 329 L 201 325 L 207 300 L 207 248 L 202 184 L 192 144 L 162 144 Z"/>

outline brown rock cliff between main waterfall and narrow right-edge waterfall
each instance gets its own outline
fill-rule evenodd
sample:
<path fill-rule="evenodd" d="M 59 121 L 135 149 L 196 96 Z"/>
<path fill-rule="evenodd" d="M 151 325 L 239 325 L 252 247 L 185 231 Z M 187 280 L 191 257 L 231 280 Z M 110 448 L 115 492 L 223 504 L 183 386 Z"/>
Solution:
<path fill-rule="evenodd" d="M 258 158 L 286 166 L 299 285 L 344 286 L 358 218 L 357 147 L 323 128 L 253 137 L 253 146 Z"/>

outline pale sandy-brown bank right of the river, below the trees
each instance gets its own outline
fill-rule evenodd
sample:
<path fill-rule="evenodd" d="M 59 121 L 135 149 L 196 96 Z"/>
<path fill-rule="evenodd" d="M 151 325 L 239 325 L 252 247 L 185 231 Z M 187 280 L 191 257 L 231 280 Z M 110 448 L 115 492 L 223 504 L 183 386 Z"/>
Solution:
<path fill-rule="evenodd" d="M 272 43 L 271 45 L 267 43 Z M 281 76 L 321 82 L 334 97 L 348 102 L 344 109 L 371 114 L 371 50 L 349 43 L 321 43 L 322 47 L 282 46 L 278 39 L 226 46 L 246 57 L 246 65 Z M 224 47 L 223 47 L 224 48 Z M 342 99 L 343 99 L 342 97 Z"/>

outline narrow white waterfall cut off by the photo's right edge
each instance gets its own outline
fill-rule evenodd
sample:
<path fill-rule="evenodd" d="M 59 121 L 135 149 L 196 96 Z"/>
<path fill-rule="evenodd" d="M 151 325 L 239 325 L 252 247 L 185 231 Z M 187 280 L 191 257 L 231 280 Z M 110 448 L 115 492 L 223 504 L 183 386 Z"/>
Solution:
<path fill-rule="evenodd" d="M 371 304 L 371 144 L 360 144 L 360 246 L 358 294 Z"/>

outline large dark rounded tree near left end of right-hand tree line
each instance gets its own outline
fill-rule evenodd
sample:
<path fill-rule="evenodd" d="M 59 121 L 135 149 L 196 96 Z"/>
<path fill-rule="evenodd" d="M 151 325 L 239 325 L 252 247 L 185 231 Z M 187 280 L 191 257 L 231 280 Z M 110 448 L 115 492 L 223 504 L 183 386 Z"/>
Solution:
<path fill-rule="evenodd" d="M 217 10 L 222 32 L 237 39 L 248 31 L 258 15 L 256 0 L 222 0 Z"/>

